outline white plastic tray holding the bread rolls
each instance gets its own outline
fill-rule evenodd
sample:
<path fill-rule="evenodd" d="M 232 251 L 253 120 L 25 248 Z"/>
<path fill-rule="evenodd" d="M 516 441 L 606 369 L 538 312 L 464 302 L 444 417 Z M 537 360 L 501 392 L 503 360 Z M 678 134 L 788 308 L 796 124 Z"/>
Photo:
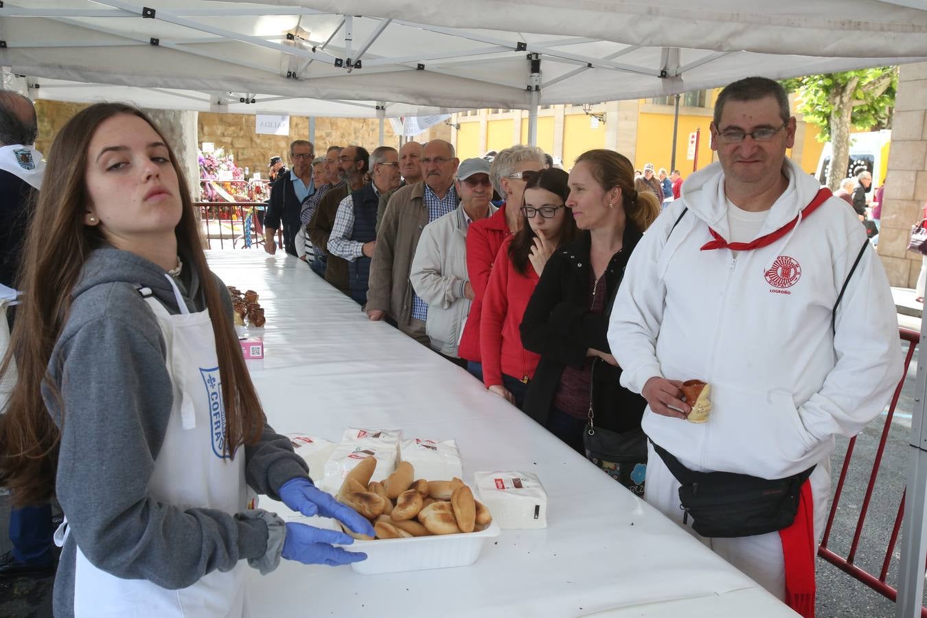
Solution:
<path fill-rule="evenodd" d="M 493 521 L 481 532 L 354 541 L 347 549 L 363 551 L 367 560 L 352 562 L 350 568 L 354 573 L 370 575 L 468 566 L 479 558 L 486 539 L 501 533 L 499 524 Z"/>

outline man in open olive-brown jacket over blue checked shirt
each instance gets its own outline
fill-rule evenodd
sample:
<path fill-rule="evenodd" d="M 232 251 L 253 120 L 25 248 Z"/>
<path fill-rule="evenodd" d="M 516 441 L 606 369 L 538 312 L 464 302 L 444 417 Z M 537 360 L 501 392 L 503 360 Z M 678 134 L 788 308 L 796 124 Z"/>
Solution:
<path fill-rule="evenodd" d="M 400 331 L 427 346 L 428 305 L 414 293 L 409 272 L 422 228 L 460 202 L 454 188 L 460 160 L 450 143 L 432 140 L 423 148 L 421 162 L 423 182 L 404 186 L 389 199 L 376 235 L 366 309 L 371 320 L 388 314 Z"/>

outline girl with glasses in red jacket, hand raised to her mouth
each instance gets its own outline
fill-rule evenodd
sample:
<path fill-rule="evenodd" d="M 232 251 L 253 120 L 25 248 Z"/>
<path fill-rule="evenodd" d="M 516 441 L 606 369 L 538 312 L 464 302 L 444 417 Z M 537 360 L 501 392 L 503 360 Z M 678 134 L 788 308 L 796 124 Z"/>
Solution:
<path fill-rule="evenodd" d="M 556 169 L 530 176 L 521 208 L 527 224 L 502 243 L 483 298 L 479 328 L 483 384 L 519 409 L 540 360 L 522 347 L 522 316 L 547 259 L 577 233 L 573 214 L 565 208 L 567 180 L 569 174 Z"/>

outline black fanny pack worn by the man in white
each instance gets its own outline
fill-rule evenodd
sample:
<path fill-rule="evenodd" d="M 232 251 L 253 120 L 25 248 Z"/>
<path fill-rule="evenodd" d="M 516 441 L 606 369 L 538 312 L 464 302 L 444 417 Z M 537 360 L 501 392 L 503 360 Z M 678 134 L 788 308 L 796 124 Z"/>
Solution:
<path fill-rule="evenodd" d="M 679 508 L 686 511 L 682 523 L 688 523 L 691 516 L 695 532 L 714 538 L 765 535 L 792 525 L 802 486 L 815 468 L 774 480 L 750 474 L 697 473 L 665 448 L 651 444 L 681 484 Z"/>

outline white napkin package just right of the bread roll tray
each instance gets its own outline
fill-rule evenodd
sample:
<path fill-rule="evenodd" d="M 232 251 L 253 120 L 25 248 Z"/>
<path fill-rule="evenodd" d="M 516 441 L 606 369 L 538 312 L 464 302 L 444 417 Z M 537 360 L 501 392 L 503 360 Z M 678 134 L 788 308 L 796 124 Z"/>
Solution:
<path fill-rule="evenodd" d="M 479 500 L 503 530 L 547 527 L 547 492 L 537 475 L 476 473 L 475 480 Z"/>

